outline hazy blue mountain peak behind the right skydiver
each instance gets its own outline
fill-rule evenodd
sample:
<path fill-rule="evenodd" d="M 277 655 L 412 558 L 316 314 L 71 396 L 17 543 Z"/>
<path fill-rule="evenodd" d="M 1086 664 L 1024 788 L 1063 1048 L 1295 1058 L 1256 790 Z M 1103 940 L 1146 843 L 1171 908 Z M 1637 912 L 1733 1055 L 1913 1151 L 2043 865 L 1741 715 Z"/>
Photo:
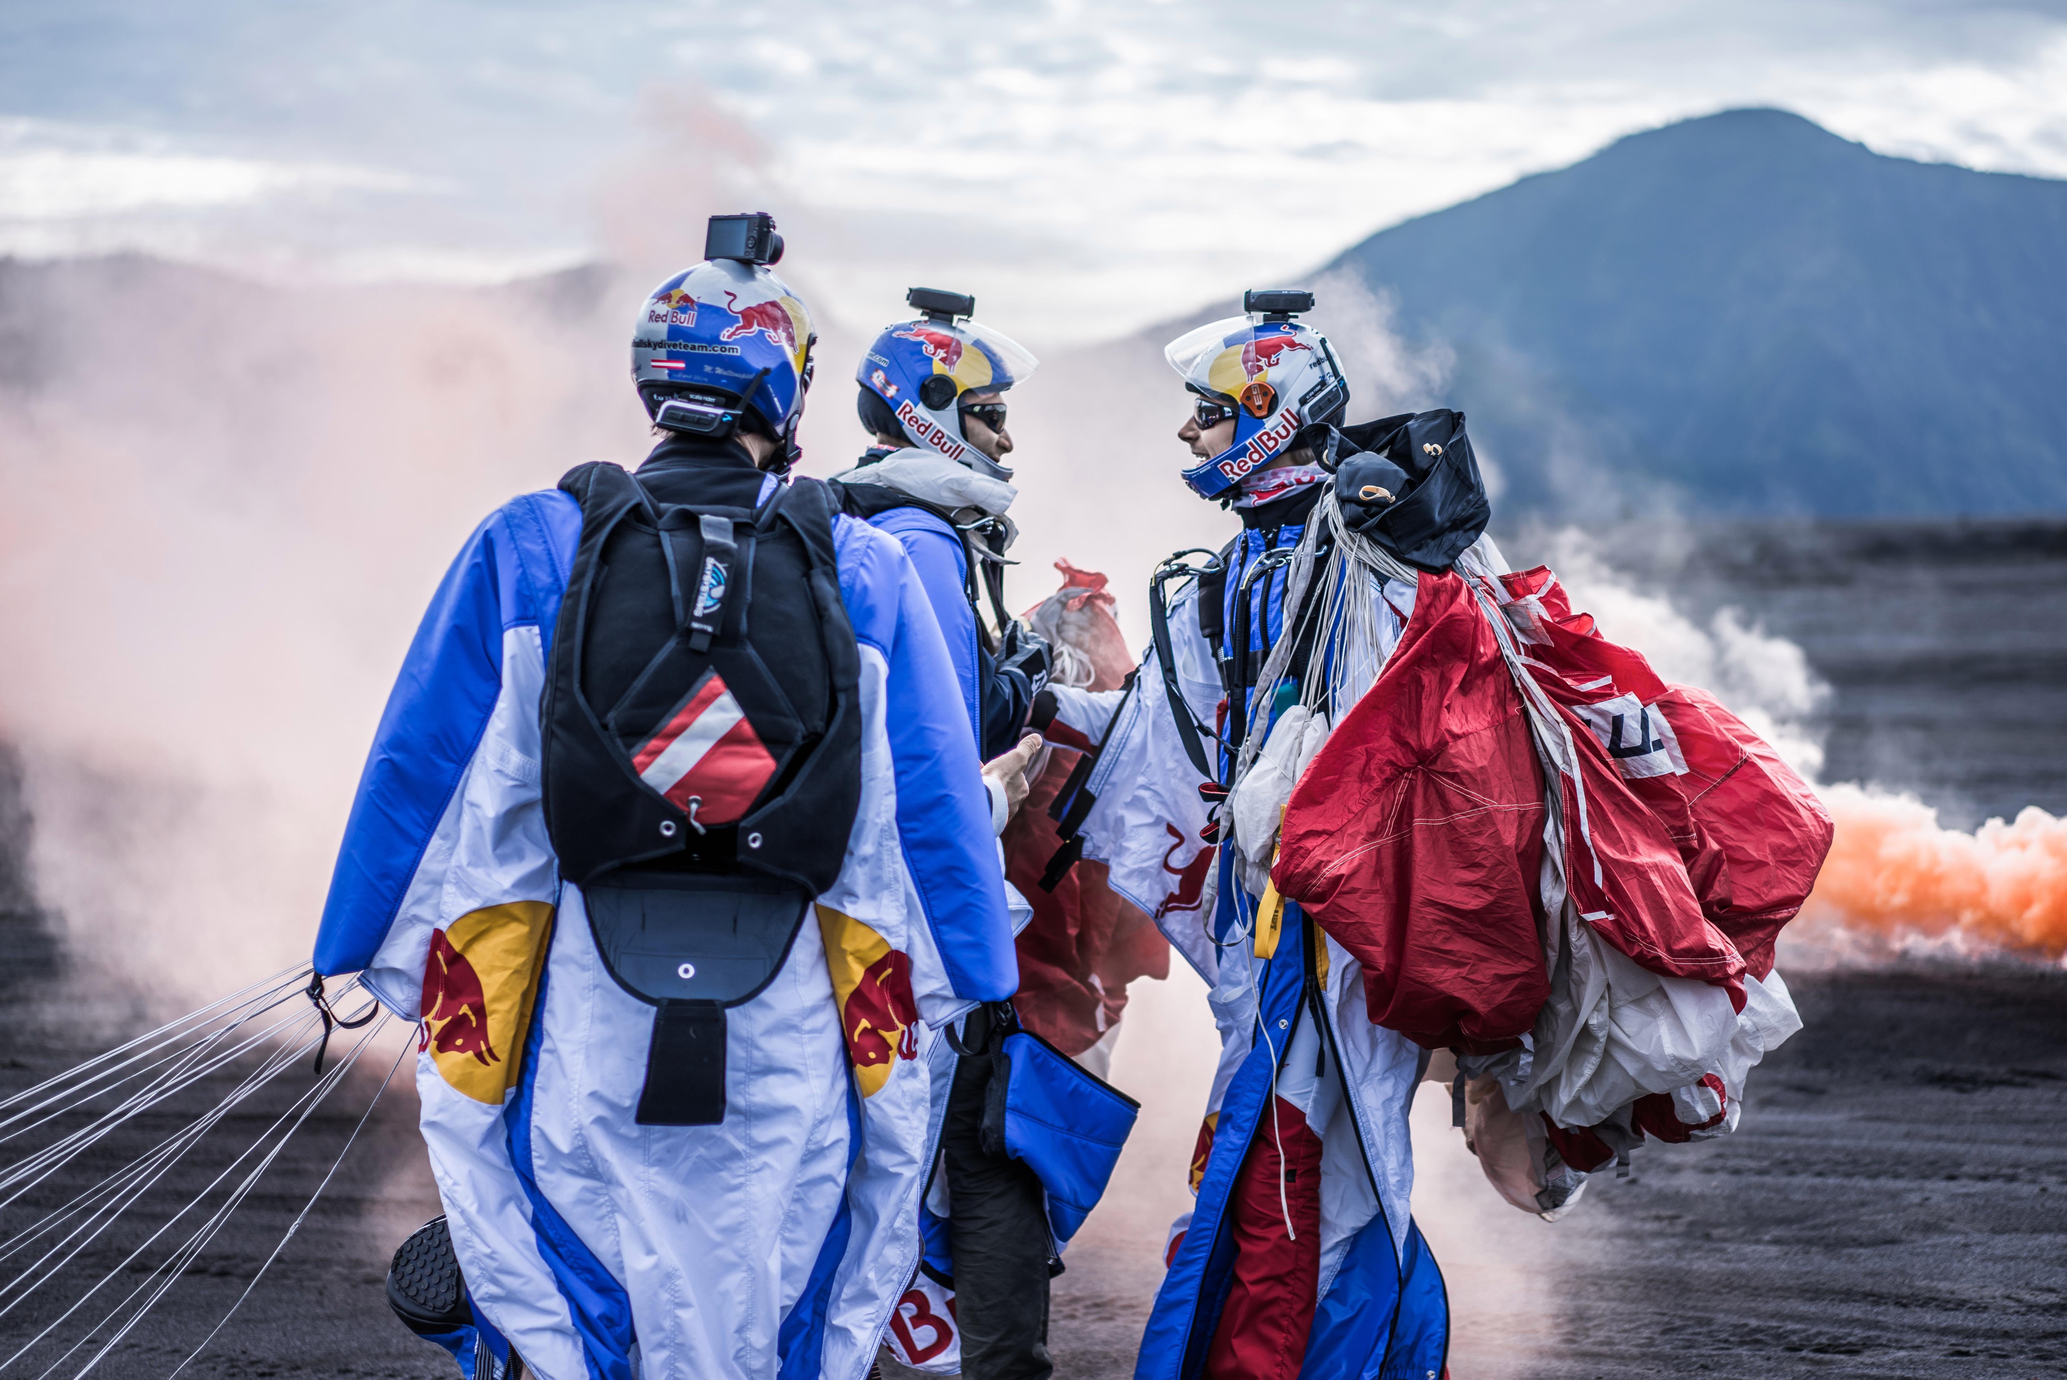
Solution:
<path fill-rule="evenodd" d="M 2067 509 L 2067 182 L 1732 110 L 1331 267 L 1455 352 L 1507 513 Z"/>

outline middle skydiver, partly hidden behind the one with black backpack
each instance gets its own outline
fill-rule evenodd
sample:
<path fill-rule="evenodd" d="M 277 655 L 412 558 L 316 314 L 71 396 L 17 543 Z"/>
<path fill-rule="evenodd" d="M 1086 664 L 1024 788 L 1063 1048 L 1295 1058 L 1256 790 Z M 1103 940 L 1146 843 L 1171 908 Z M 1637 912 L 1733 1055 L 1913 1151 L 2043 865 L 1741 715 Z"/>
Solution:
<path fill-rule="evenodd" d="M 1002 565 L 1017 536 L 1007 515 L 1017 488 L 1005 466 L 1013 453 L 1005 393 L 1036 360 L 974 321 L 974 298 L 914 288 L 907 302 L 920 314 L 885 327 L 856 370 L 856 410 L 874 445 L 833 484 L 850 513 L 903 544 L 947 635 L 971 737 L 992 759 L 986 772 L 1009 772 L 1023 788 L 1042 741 L 1021 734 L 1046 689 L 1050 648 L 1005 610 Z M 994 823 L 1005 830 L 1005 809 Z M 1017 890 L 1009 896 L 1015 908 L 1025 904 Z M 1021 962 L 1021 979 L 1025 970 Z M 909 1366 L 971 1380 L 1054 1372 L 1048 1279 L 1110 1173 L 1133 1105 L 1102 1082 L 1102 1070 L 1065 1057 L 1081 1051 L 1050 1043 L 1069 1032 L 1044 1018 L 1038 993 L 1027 1012 L 978 1008 L 953 1026 L 951 1061 L 934 1066 L 945 1097 L 940 1192 L 926 1198 L 918 1223 L 926 1254 L 889 1332 Z M 1044 1113 L 1015 1115 L 1044 1094 L 1056 1099 Z M 1071 1123 L 1077 1148 L 1046 1159 L 1042 1121 Z M 1083 1138 L 1100 1134 L 1104 1167 L 1083 1181 Z"/>

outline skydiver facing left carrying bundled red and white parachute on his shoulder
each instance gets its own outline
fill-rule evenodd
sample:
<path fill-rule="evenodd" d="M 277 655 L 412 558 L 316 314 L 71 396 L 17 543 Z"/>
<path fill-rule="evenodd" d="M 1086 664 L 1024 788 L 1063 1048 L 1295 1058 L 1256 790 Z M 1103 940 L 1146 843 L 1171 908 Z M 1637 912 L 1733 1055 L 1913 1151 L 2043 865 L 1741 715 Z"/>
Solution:
<path fill-rule="evenodd" d="M 1486 1175 L 1556 1217 L 1645 1138 L 1736 1126 L 1798 1028 L 1773 939 L 1829 846 L 1740 720 L 1509 571 L 1457 412 L 1348 424 L 1313 294 L 1172 341 L 1220 552 L 1151 583 L 1120 691 L 1052 685 L 1087 753 L 1071 859 L 1207 981 L 1222 1059 L 1137 1380 L 1437 1380 L 1410 1214 L 1430 1057 Z"/>

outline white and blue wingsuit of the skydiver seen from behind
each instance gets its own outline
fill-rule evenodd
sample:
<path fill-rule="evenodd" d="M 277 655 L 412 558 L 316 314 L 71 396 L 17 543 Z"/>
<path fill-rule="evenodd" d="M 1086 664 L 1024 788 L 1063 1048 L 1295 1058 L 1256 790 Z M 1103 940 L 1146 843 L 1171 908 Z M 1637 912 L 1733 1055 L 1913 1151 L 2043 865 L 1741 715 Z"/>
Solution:
<path fill-rule="evenodd" d="M 916 1026 L 1017 987 L 957 679 L 899 544 L 835 517 L 864 710 L 841 875 L 730 1012 L 723 1121 L 639 1126 L 655 1008 L 604 970 L 539 803 L 579 534 L 570 494 L 535 492 L 459 552 L 380 720 L 314 966 L 422 1020 L 424 1140 L 498 1355 L 546 1380 L 860 1380 L 918 1254 Z"/>

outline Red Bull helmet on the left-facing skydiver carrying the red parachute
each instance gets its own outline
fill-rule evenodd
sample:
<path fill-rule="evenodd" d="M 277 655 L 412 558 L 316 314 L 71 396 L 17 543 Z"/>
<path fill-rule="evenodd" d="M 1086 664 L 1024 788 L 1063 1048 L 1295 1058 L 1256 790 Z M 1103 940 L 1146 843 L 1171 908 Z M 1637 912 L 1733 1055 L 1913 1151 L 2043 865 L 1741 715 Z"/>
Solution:
<path fill-rule="evenodd" d="M 1203 499 L 1220 499 L 1288 449 L 1306 426 L 1333 422 L 1350 406 L 1335 350 L 1292 321 L 1313 294 L 1265 290 L 1242 296 L 1244 317 L 1207 323 L 1164 348 L 1164 358 L 1201 397 L 1234 408 L 1234 445 L 1184 472 Z"/>

